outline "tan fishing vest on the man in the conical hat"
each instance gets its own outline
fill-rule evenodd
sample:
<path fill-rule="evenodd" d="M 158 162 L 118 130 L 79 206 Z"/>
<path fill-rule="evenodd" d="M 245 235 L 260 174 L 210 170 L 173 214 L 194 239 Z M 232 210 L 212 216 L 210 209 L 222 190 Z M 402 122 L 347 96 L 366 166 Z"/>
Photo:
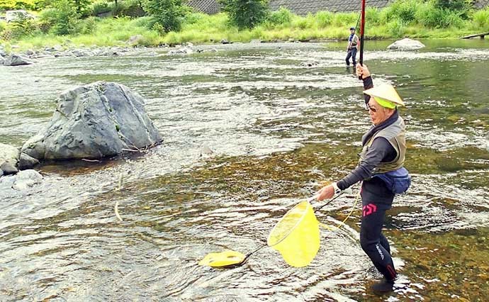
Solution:
<path fill-rule="evenodd" d="M 373 169 L 372 174 L 381 174 L 402 168 L 406 155 L 405 128 L 406 126 L 404 124 L 403 118 L 399 116 L 398 120 L 395 121 L 393 124 L 388 125 L 386 128 L 383 128 L 382 130 L 372 135 L 370 140 L 365 143 L 364 148 L 361 150 L 359 162 L 364 160 L 366 152 L 372 145 L 373 140 L 380 137 L 388 140 L 390 145 L 392 145 L 395 152 L 397 153 L 397 156 L 392 162 L 380 162 L 377 167 Z"/>

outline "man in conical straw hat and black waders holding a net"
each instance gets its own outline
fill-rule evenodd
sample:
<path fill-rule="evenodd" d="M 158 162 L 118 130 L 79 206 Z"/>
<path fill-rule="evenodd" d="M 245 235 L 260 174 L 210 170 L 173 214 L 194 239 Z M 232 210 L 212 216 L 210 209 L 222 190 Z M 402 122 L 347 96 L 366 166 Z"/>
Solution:
<path fill-rule="evenodd" d="M 408 170 L 403 167 L 405 124 L 398 111 L 404 102 L 393 86 L 385 84 L 373 87 L 366 66 L 357 65 L 356 74 L 364 81 L 365 102 L 373 125 L 361 138 L 358 166 L 343 179 L 320 189 L 317 200 L 332 198 L 362 181 L 360 245 L 384 276 L 384 280 L 373 284 L 371 289 L 388 292 L 393 290 L 397 273 L 382 227 L 395 194 L 407 191 L 410 186 Z"/>

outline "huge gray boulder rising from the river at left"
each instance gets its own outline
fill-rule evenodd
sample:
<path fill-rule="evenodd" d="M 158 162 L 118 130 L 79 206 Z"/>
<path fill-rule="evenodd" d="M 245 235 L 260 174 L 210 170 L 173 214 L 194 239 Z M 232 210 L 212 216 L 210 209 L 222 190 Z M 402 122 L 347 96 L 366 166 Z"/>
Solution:
<path fill-rule="evenodd" d="M 120 84 L 95 82 L 64 91 L 50 124 L 21 151 L 38 160 L 90 159 L 161 141 L 139 94 Z"/>

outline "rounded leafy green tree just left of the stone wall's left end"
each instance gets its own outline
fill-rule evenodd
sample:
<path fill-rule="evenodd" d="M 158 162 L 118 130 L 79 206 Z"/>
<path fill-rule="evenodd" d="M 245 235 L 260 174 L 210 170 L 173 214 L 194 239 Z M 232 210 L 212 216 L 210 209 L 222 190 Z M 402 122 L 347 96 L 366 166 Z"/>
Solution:
<path fill-rule="evenodd" d="M 143 9 L 152 17 L 150 26 L 163 28 L 165 32 L 180 30 L 182 20 L 189 12 L 182 0 L 145 0 Z"/>

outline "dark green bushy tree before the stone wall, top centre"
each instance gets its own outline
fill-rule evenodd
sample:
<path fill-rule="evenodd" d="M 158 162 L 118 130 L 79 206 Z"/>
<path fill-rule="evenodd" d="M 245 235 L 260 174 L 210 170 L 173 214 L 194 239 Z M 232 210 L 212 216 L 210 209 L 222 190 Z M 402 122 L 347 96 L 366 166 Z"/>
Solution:
<path fill-rule="evenodd" d="M 218 0 L 230 21 L 240 29 L 254 28 L 269 12 L 269 0 Z"/>

